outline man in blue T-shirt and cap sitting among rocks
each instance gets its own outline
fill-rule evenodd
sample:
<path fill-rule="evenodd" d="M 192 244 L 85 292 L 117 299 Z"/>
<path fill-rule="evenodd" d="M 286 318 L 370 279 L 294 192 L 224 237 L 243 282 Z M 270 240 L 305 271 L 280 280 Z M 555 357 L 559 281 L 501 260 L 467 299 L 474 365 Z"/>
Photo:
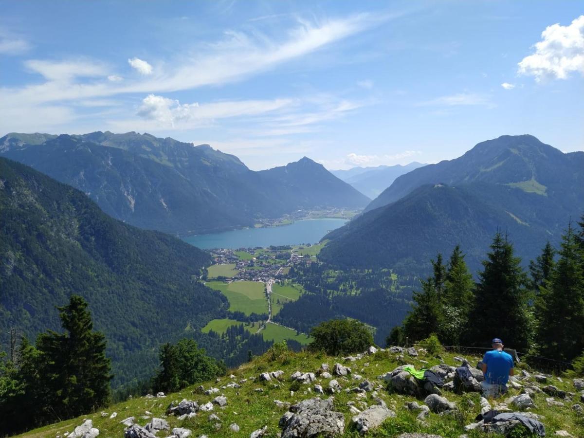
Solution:
<path fill-rule="evenodd" d="M 482 396 L 485 398 L 498 397 L 507 392 L 507 381 L 513 376 L 513 358 L 503 351 L 503 341 L 495 338 L 492 341 L 493 349 L 485 353 L 482 358 L 482 373 L 485 380 L 481 382 Z"/>

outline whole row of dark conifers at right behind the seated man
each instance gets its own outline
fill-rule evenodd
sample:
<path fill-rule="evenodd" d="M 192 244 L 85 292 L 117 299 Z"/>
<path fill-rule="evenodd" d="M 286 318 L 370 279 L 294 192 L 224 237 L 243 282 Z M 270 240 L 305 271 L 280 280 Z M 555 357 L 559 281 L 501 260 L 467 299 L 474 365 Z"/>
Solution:
<path fill-rule="evenodd" d="M 432 275 L 413 294 L 412 310 L 387 342 L 434 333 L 444 345 L 487 347 L 497 337 L 521 352 L 576 359 L 584 350 L 584 218 L 578 225 L 568 224 L 558 249 L 548 242 L 529 273 L 500 232 L 476 283 L 460 246 L 447 262 L 438 254 Z"/>

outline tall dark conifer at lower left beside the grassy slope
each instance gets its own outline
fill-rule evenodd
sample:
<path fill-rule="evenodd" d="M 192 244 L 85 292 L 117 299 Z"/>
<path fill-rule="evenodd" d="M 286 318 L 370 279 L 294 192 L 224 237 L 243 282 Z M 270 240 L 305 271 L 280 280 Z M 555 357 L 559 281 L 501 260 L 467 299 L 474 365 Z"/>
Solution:
<path fill-rule="evenodd" d="M 39 335 L 37 349 L 43 400 L 55 418 L 71 418 L 107 404 L 110 397 L 110 360 L 103 333 L 93 331 L 87 302 L 71 296 L 58 307 L 65 333 Z"/>

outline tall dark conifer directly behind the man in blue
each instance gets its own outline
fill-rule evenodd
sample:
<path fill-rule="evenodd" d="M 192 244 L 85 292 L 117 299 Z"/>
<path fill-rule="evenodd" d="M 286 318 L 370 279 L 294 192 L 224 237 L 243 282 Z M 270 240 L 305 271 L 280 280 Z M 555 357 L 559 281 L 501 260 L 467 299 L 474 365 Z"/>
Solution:
<path fill-rule="evenodd" d="M 530 343 L 531 321 L 529 296 L 524 288 L 527 276 L 521 260 L 513 255 L 513 245 L 499 232 L 487 257 L 479 273 L 469 342 L 488 346 L 497 337 L 509 347 L 525 350 Z"/>

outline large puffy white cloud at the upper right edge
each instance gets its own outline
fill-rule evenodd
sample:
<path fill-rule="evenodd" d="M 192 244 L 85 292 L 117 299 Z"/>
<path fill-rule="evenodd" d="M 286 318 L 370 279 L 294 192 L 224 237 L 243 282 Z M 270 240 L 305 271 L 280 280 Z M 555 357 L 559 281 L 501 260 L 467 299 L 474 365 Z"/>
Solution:
<path fill-rule="evenodd" d="M 571 72 L 584 76 L 584 15 L 569 26 L 559 23 L 545 28 L 536 52 L 519 62 L 519 73 L 536 77 L 566 79 Z"/>

